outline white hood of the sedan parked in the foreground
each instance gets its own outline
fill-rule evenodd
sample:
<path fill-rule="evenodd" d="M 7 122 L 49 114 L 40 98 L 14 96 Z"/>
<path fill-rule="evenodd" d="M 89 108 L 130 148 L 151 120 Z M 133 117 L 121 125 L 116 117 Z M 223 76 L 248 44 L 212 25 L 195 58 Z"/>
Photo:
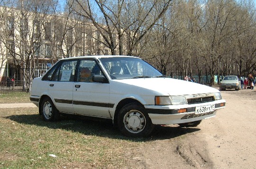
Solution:
<path fill-rule="evenodd" d="M 123 79 L 113 80 L 117 83 L 123 83 L 127 89 L 133 88 L 133 91 L 139 92 L 139 89 L 153 90 L 159 95 L 176 96 L 176 95 L 192 95 L 202 93 L 219 92 L 218 89 L 209 86 L 201 85 L 198 83 L 176 80 L 172 78 L 141 78 L 141 79 Z M 118 84 L 120 86 L 121 84 Z"/>

